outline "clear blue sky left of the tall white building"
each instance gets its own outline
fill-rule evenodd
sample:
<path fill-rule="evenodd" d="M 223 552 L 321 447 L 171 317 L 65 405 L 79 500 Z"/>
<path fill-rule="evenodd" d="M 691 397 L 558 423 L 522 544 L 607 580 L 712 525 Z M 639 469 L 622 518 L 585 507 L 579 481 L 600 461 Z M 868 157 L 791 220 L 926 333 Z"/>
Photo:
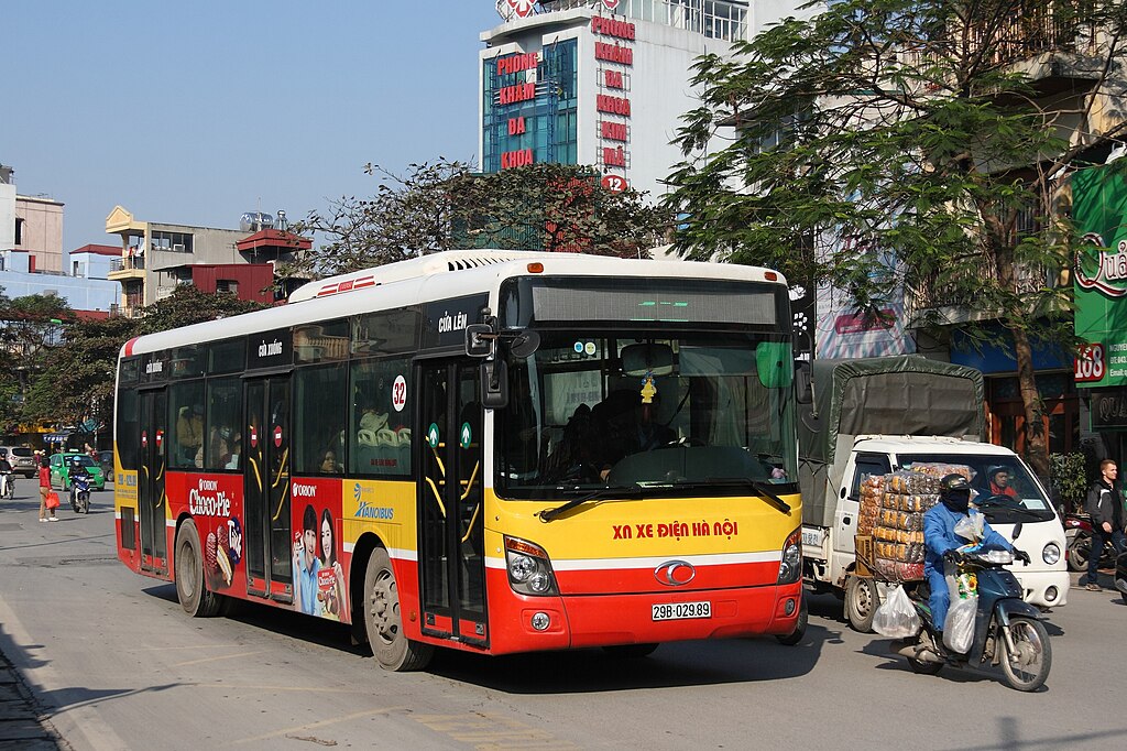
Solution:
<path fill-rule="evenodd" d="M 106 217 L 238 229 L 477 162 L 479 34 L 495 0 L 3 2 L 0 164 L 65 204 L 63 250 Z"/>

